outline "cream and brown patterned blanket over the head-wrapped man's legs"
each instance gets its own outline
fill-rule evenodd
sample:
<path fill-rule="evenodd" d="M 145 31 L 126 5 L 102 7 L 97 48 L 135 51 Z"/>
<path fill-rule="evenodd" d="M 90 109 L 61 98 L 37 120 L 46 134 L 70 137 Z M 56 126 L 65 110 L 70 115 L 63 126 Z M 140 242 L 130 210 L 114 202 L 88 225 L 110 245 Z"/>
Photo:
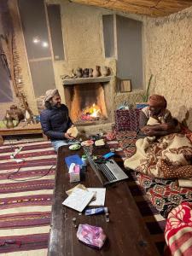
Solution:
<path fill-rule="evenodd" d="M 156 125 L 157 122 L 156 119 L 148 119 L 148 125 Z M 125 168 L 150 177 L 192 177 L 192 143 L 185 134 L 140 138 L 136 148 L 136 154 L 125 160 Z"/>

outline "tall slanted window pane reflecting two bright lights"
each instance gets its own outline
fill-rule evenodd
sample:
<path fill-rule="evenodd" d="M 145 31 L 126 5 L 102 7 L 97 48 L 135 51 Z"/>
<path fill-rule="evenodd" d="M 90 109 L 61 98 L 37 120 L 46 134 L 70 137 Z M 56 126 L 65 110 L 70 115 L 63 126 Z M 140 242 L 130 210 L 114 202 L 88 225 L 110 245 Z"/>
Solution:
<path fill-rule="evenodd" d="M 55 88 L 44 0 L 19 0 L 20 20 L 35 96 Z"/>

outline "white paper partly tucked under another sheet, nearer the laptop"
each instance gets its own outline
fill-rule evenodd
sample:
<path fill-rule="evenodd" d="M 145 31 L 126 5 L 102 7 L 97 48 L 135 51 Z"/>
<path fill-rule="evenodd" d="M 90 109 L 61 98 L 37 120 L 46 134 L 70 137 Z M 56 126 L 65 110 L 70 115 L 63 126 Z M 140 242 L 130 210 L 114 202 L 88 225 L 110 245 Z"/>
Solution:
<path fill-rule="evenodd" d="M 89 207 L 104 207 L 105 205 L 105 188 L 87 188 L 88 191 L 93 192 L 96 196 L 96 200 L 91 201 Z"/>

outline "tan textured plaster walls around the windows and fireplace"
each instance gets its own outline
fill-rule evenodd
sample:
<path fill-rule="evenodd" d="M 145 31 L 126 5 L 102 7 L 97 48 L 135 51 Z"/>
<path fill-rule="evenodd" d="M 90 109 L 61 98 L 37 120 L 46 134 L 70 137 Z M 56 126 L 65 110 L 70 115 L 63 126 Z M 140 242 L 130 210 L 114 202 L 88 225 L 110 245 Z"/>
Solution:
<path fill-rule="evenodd" d="M 102 15 L 115 12 L 91 6 L 70 3 L 67 0 L 46 0 L 46 3 L 61 5 L 61 26 L 64 38 L 65 60 L 53 61 L 55 86 L 60 91 L 65 102 L 61 76 L 70 74 L 77 67 L 108 66 L 116 74 L 115 58 L 105 58 L 102 38 Z M 10 1 L 15 12 L 15 43 L 20 58 L 20 79 L 30 108 L 37 113 L 37 102 L 32 88 L 32 80 L 27 63 L 26 49 L 17 14 L 16 0 Z M 125 15 L 118 13 L 119 15 Z M 180 121 L 186 120 L 192 124 L 192 8 L 183 10 L 165 18 L 152 19 L 143 16 L 126 16 L 143 20 L 143 67 L 145 84 L 154 74 L 151 93 L 166 96 L 168 108 Z M 115 80 L 111 82 L 114 109 L 122 102 L 142 101 L 143 90 L 131 93 L 118 93 L 115 90 Z M 6 105 L 7 108 L 7 105 Z"/>

